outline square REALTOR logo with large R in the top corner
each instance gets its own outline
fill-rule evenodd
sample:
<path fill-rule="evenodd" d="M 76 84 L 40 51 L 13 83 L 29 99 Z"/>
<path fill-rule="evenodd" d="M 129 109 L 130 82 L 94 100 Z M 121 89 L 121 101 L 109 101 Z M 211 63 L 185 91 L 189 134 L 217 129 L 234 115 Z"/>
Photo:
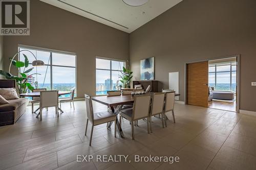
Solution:
<path fill-rule="evenodd" d="M 29 35 L 29 0 L 0 0 L 1 34 Z"/>

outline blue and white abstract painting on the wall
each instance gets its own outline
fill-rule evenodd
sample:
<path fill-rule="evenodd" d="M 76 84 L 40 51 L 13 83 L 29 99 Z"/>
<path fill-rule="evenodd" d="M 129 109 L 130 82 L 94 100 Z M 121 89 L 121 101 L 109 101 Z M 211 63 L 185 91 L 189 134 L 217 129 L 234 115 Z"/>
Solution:
<path fill-rule="evenodd" d="M 140 60 L 140 80 L 154 80 L 155 57 Z"/>

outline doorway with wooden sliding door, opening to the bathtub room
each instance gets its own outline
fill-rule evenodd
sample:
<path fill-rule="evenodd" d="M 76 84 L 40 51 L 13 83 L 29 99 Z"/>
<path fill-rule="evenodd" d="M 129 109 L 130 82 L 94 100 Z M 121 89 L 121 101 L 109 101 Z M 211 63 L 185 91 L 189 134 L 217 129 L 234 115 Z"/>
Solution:
<path fill-rule="evenodd" d="M 185 64 L 185 104 L 239 112 L 240 56 Z"/>

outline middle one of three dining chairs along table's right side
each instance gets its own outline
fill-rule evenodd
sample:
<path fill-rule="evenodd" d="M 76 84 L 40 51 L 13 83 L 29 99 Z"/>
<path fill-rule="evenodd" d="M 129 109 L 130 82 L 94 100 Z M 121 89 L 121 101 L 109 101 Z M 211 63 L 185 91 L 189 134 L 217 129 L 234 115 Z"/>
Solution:
<path fill-rule="evenodd" d="M 162 116 L 162 127 L 164 128 L 164 114 L 163 114 L 163 107 L 164 107 L 164 95 L 163 92 L 153 93 L 152 100 L 151 100 L 151 114 L 150 114 L 150 131 L 152 133 L 152 116 L 160 115 Z M 160 116 L 159 116 L 160 117 Z"/>

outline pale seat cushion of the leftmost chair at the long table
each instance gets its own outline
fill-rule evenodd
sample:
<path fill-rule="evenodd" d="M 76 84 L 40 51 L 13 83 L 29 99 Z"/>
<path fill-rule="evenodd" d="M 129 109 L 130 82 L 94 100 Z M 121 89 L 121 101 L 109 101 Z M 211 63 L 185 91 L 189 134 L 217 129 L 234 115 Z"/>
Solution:
<path fill-rule="evenodd" d="M 111 122 L 116 120 L 116 115 L 112 114 L 110 111 L 102 111 L 94 113 L 94 125 L 103 124 L 106 122 Z"/>

